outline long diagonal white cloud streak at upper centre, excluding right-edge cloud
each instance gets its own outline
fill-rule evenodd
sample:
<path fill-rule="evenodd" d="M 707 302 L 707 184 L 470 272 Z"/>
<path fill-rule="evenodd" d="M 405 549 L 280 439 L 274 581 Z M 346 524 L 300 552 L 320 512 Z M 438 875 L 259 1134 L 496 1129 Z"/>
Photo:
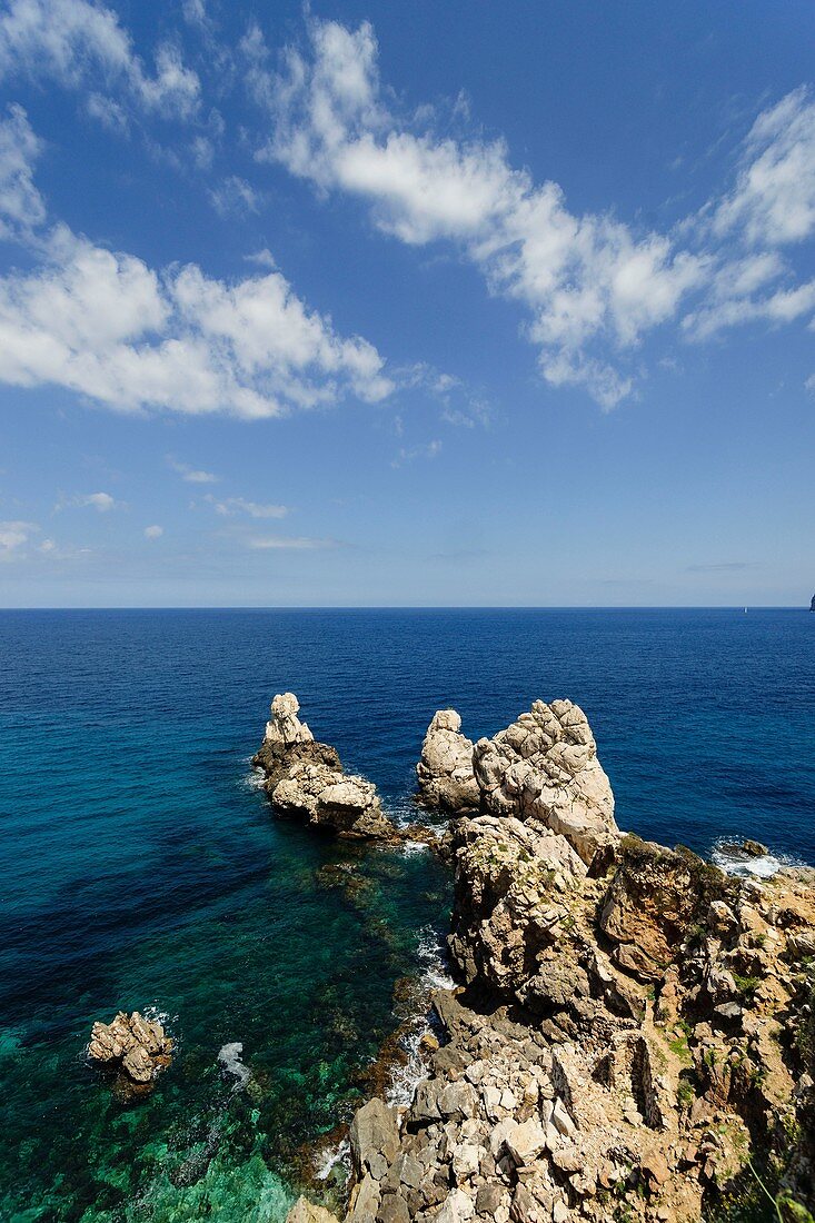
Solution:
<path fill-rule="evenodd" d="M 630 379 L 591 347 L 633 349 L 700 284 L 705 258 L 609 216 L 574 215 L 560 188 L 514 169 L 499 141 L 411 131 L 384 104 L 368 23 L 311 21 L 308 29 L 311 57 L 289 50 L 277 78 L 257 39 L 250 48 L 250 86 L 274 121 L 261 155 L 368 201 L 376 224 L 404 242 L 460 243 L 493 291 L 530 309 L 526 334 L 543 377 L 582 383 L 613 406 Z"/>

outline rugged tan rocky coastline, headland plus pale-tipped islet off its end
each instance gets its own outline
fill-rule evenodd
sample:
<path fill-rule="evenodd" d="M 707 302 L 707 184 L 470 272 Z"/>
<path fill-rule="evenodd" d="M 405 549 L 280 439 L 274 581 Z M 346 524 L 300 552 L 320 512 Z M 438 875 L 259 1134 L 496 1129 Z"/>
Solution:
<path fill-rule="evenodd" d="M 349 817 L 302 783 L 344 774 L 290 696 L 256 757 L 272 802 L 283 784 L 310 823 L 395 839 L 370 796 Z M 734 878 L 620 832 L 569 701 L 475 744 L 460 726 L 439 711 L 417 764 L 419 802 L 450 817 L 459 983 L 433 994 L 412 1102 L 351 1123 L 345 1223 L 693 1223 L 740 1199 L 728 1218 L 810 1219 L 815 871 Z M 335 1219 L 305 1197 L 289 1216 Z"/>

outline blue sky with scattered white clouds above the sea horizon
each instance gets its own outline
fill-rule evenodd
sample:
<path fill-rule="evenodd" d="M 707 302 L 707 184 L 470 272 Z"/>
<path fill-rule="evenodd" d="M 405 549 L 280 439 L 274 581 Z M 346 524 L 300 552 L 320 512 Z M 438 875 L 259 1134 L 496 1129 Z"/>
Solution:
<path fill-rule="evenodd" d="M 813 45 L 0 4 L 0 605 L 809 600 Z"/>

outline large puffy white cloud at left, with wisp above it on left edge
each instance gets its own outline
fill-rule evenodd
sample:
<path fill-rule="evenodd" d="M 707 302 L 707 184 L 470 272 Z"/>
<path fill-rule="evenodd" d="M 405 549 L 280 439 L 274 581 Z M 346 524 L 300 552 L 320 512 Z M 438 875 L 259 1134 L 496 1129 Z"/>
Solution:
<path fill-rule="evenodd" d="M 29 132 L 20 111 L 0 125 L 12 149 L 0 204 L 12 216 L 37 153 Z M 235 283 L 195 264 L 157 272 L 59 225 L 28 246 L 34 270 L 0 278 L 0 382 L 60 385 L 120 411 L 245 418 L 393 389 L 373 345 L 339 336 L 279 272 Z"/>

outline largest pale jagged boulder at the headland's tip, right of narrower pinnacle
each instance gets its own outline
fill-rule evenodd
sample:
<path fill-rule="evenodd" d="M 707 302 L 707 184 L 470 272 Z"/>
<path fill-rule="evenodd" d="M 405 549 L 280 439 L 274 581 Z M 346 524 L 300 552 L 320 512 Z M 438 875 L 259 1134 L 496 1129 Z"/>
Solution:
<path fill-rule="evenodd" d="M 607 865 L 619 838 L 614 796 L 579 706 L 535 701 L 494 739 L 478 740 L 472 766 L 483 811 L 537 819 L 587 866 Z"/>

